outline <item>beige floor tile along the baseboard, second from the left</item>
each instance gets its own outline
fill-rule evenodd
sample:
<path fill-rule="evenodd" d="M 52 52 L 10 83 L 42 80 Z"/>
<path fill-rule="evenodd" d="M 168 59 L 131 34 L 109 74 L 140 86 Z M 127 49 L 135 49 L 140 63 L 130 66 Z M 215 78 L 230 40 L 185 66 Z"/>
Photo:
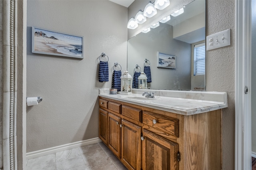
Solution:
<path fill-rule="evenodd" d="M 78 148 L 56 153 L 56 170 L 68 170 L 84 165 L 84 160 Z"/>

